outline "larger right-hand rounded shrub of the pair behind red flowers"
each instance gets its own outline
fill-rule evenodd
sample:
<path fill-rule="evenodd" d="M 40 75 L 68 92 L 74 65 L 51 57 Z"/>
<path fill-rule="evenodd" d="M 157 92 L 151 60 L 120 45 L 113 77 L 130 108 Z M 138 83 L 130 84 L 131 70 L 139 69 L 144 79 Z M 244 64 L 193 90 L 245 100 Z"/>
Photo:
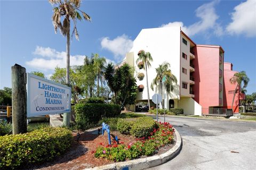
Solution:
<path fill-rule="evenodd" d="M 157 128 L 156 122 L 151 117 L 139 117 L 136 122 L 132 124 L 130 133 L 134 137 L 148 137 L 150 132 Z"/>

